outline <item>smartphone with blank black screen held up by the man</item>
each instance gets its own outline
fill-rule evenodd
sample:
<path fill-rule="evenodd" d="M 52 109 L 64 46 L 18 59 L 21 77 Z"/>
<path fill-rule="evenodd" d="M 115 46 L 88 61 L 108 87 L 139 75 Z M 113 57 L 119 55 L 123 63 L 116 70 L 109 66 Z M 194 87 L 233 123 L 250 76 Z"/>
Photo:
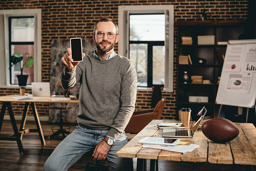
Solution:
<path fill-rule="evenodd" d="M 74 60 L 74 62 L 83 61 L 82 39 L 71 38 L 70 47 L 71 47 L 72 59 Z"/>

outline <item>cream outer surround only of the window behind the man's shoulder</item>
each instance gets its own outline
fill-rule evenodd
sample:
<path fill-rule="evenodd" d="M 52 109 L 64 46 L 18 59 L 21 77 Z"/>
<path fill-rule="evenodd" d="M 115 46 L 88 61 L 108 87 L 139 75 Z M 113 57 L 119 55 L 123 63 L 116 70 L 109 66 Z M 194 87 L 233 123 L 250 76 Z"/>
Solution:
<path fill-rule="evenodd" d="M 129 58 L 129 14 L 162 14 L 168 16 L 165 23 L 165 85 L 164 90 L 173 92 L 173 32 L 174 6 L 173 5 L 131 5 L 118 7 L 118 25 L 120 40 L 118 53 Z M 166 25 L 168 25 L 166 27 Z M 145 89 L 138 87 L 138 89 Z M 146 88 L 146 89 L 149 89 Z M 151 88 L 150 88 L 151 89 Z"/>

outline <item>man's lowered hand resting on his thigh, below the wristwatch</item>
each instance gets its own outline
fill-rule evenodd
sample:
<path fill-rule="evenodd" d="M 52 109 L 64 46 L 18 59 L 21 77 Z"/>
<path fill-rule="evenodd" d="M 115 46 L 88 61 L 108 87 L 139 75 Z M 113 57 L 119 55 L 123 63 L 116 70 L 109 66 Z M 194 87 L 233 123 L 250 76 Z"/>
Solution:
<path fill-rule="evenodd" d="M 106 141 L 101 141 L 94 149 L 94 154 L 92 154 L 92 157 L 94 157 L 93 160 L 105 160 L 110 148 L 111 146 Z"/>

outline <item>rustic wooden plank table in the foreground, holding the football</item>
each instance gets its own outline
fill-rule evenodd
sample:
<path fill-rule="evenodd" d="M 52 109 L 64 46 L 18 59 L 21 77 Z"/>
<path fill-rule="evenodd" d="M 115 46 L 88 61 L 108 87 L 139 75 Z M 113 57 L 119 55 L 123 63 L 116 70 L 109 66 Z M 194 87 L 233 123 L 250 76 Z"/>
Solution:
<path fill-rule="evenodd" d="M 117 153 L 117 157 L 136 158 L 137 170 L 147 170 L 147 159 L 151 160 L 150 170 L 158 170 L 158 160 L 208 162 L 210 164 L 247 165 L 252 170 L 256 165 L 256 128 L 250 123 L 235 123 L 239 135 L 229 143 L 218 144 L 208 140 L 198 130 L 192 139 L 182 139 L 190 144 L 198 144 L 199 148 L 192 152 L 178 153 L 167 150 L 142 148 L 139 140 L 146 136 L 161 137 L 162 129 L 157 124 L 164 120 L 152 120 L 132 140 Z M 170 121 L 168 121 L 170 122 Z M 254 166 L 253 166 L 254 165 Z"/>

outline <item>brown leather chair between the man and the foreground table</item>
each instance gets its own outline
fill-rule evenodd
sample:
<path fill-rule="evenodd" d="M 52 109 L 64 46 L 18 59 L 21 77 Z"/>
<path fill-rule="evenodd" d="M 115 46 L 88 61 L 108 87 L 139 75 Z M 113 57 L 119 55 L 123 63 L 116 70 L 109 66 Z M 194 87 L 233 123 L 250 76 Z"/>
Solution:
<path fill-rule="evenodd" d="M 156 104 L 154 109 L 144 109 L 133 112 L 133 115 L 124 131 L 127 133 L 139 133 L 153 119 L 161 119 L 164 105 L 165 99 L 162 98 Z"/>

